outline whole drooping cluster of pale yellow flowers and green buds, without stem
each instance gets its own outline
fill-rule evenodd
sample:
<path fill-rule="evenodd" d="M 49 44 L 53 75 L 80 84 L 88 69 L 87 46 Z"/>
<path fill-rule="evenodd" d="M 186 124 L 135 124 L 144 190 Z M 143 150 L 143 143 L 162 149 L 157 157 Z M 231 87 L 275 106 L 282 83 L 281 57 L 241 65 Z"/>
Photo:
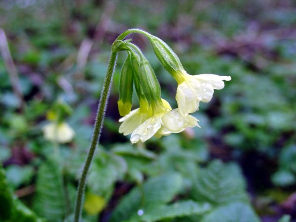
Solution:
<path fill-rule="evenodd" d="M 161 98 L 160 86 L 148 60 L 141 50 L 128 41 L 113 44 L 113 50 L 127 51 L 119 81 L 118 109 L 121 116 L 119 133 L 131 134 L 131 142 L 145 142 L 153 135 L 161 137 L 170 133 L 180 133 L 187 127 L 200 127 L 198 120 L 191 116 L 198 110 L 199 102 L 209 102 L 214 89 L 222 89 L 230 76 L 213 74 L 189 75 L 184 70 L 178 56 L 162 40 L 146 34 L 162 66 L 178 83 L 176 100 L 178 108 Z M 115 45 L 115 46 L 114 46 Z M 115 48 L 115 49 L 114 49 Z M 134 87 L 140 107 L 131 110 Z"/>

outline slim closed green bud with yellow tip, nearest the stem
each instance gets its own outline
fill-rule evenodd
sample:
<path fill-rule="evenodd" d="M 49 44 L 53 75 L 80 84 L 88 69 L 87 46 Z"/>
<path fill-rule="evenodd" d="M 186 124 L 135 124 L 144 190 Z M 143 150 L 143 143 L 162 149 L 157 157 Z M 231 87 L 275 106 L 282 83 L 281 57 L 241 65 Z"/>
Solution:
<path fill-rule="evenodd" d="M 123 63 L 119 78 L 119 100 L 117 102 L 120 116 L 125 116 L 132 109 L 134 74 L 130 55 Z"/>

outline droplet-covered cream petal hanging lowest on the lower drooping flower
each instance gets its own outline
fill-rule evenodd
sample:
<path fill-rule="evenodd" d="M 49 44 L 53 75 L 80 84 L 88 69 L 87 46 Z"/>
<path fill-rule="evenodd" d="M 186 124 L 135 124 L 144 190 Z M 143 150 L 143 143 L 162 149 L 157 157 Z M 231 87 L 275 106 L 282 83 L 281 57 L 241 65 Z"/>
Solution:
<path fill-rule="evenodd" d="M 151 138 L 160 129 L 162 116 L 163 114 L 152 116 L 137 127 L 131 135 L 131 143 L 136 143 L 139 140 L 145 142 Z"/>

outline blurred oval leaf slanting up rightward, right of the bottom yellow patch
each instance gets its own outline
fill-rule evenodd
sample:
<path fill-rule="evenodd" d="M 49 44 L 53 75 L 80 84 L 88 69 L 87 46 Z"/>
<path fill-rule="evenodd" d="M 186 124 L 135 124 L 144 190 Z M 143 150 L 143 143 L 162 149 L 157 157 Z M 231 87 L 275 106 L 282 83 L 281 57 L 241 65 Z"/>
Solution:
<path fill-rule="evenodd" d="M 135 187 L 119 202 L 111 215 L 111 222 L 128 220 L 136 217 L 139 209 L 149 206 L 163 205 L 171 201 L 180 191 L 182 178 L 178 174 L 168 174 L 159 177 L 149 178 L 140 187 Z M 143 193 L 143 195 L 142 195 Z"/>

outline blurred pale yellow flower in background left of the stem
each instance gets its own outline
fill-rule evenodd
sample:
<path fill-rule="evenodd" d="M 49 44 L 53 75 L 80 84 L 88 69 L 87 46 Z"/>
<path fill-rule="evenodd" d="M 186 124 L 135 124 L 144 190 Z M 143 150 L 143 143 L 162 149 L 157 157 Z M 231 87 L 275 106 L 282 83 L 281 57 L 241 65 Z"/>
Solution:
<path fill-rule="evenodd" d="M 70 142 L 75 133 L 74 130 L 65 122 L 48 123 L 43 127 L 44 138 L 52 142 L 67 143 Z"/>

